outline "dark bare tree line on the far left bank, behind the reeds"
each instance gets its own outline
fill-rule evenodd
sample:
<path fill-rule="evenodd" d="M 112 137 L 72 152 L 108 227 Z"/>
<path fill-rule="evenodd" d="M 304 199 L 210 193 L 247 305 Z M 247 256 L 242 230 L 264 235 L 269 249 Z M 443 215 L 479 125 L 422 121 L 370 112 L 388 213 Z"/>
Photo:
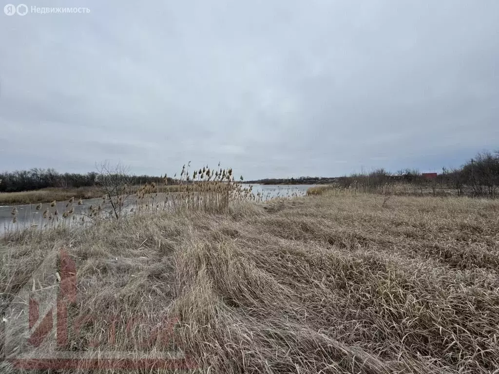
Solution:
<path fill-rule="evenodd" d="M 79 173 L 57 173 L 54 169 L 31 169 L 15 172 L 0 173 L 0 192 L 20 192 L 47 187 L 54 188 L 78 188 L 91 187 L 99 182 L 99 173 L 90 172 Z M 161 177 L 151 177 L 147 175 L 130 176 L 132 184 L 144 184 L 146 182 L 156 182 Z M 169 184 L 174 180 L 167 178 Z"/>

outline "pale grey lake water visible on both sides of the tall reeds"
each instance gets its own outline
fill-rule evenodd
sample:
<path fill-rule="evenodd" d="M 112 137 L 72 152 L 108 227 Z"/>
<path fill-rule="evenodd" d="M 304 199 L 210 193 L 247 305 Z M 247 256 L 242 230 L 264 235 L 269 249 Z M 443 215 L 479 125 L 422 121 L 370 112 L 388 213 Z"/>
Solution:
<path fill-rule="evenodd" d="M 249 187 L 250 185 L 243 185 L 243 187 Z M 306 194 L 306 190 L 312 185 L 251 185 L 252 192 L 254 195 L 260 194 L 263 200 L 268 200 L 275 197 L 293 197 L 302 196 Z M 161 199 L 161 196 L 160 196 Z M 43 219 L 43 212 L 48 208 L 52 213 L 52 220 L 48 221 L 49 225 L 59 224 L 59 222 L 74 222 L 72 216 L 76 217 L 79 221 L 83 216 L 82 213 L 87 213 L 90 205 L 97 206 L 102 202 L 101 198 L 93 198 L 82 200 L 82 204 L 78 205 L 78 200 L 72 203 L 67 201 L 57 202 L 55 207 L 51 207 L 50 203 L 44 203 L 41 209 L 36 210 L 36 204 L 31 205 L 5 205 L 0 206 L 0 233 L 6 229 L 18 229 L 29 227 L 31 225 L 37 225 L 38 227 L 43 227 L 47 224 L 47 219 Z M 17 222 L 12 222 L 13 215 L 11 214 L 13 208 L 17 209 Z M 53 213 L 57 208 L 58 216 L 54 216 Z M 68 219 L 62 218 L 62 213 L 65 210 L 74 209 L 74 213 Z"/>

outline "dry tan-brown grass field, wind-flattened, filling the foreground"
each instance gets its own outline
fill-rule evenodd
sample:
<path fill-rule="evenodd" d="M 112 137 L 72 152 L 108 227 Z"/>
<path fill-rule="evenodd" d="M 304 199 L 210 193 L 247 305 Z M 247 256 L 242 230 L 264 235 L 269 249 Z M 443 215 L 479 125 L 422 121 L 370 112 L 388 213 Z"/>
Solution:
<path fill-rule="evenodd" d="M 0 239 L 0 312 L 60 248 L 78 269 L 70 318 L 96 317 L 69 339 L 85 357 L 94 340 L 144 351 L 141 336 L 167 316 L 204 373 L 499 368 L 498 201 L 325 191 L 12 232 Z M 110 342 L 110 312 L 144 323 Z M 0 371 L 16 372 L 6 362 Z"/>

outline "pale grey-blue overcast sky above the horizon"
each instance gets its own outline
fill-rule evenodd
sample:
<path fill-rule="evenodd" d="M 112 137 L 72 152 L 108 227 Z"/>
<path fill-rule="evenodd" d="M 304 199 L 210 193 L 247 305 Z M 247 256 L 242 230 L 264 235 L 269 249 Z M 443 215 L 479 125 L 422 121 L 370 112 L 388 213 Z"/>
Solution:
<path fill-rule="evenodd" d="M 90 13 L 0 13 L 2 171 L 338 176 L 499 149 L 497 0 L 24 3 Z"/>

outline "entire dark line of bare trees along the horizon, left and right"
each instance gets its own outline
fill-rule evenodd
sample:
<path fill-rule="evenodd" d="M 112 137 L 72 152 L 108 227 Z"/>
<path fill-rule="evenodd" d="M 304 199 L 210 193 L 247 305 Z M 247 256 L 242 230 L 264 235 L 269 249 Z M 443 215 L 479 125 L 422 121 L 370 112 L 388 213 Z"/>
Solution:
<path fill-rule="evenodd" d="M 78 188 L 99 185 L 102 174 L 91 172 L 57 173 L 54 169 L 31 169 L 0 173 L 0 192 L 19 192 L 47 187 Z M 164 181 L 164 177 L 130 176 L 131 184 L 144 184 Z M 176 184 L 178 180 L 167 178 L 168 184 Z M 348 177 L 319 178 L 299 177 L 287 179 L 262 179 L 246 183 L 261 184 L 336 184 L 342 188 L 362 189 L 371 192 L 385 193 L 394 190 L 396 182 L 413 187 L 413 192 L 419 189 L 430 190 L 433 194 L 445 193 L 450 190 L 458 196 L 499 196 L 499 151 L 477 154 L 462 167 L 456 169 L 443 168 L 436 178 L 428 178 L 415 169 L 404 169 L 397 173 L 389 173 L 378 169 L 371 173 L 354 174 Z M 445 190 L 444 190 L 445 189 Z"/>

